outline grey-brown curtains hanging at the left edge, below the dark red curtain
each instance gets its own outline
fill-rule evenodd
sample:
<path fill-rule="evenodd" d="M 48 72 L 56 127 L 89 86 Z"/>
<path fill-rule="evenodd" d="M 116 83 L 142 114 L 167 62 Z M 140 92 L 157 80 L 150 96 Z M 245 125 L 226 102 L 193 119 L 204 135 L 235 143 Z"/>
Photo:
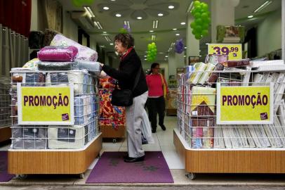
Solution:
<path fill-rule="evenodd" d="M 29 59 L 28 39 L 0 24 L 0 75 L 9 76 L 11 68 L 22 67 Z"/>

